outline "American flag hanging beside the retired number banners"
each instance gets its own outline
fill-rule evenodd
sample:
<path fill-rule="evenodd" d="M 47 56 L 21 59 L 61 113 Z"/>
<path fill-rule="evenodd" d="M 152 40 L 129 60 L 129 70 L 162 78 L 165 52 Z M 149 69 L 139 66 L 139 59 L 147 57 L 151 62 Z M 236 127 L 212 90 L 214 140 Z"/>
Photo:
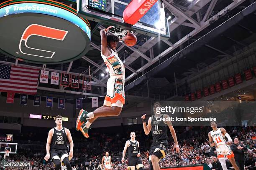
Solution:
<path fill-rule="evenodd" d="M 0 65 L 0 91 L 35 95 L 39 69 Z"/>

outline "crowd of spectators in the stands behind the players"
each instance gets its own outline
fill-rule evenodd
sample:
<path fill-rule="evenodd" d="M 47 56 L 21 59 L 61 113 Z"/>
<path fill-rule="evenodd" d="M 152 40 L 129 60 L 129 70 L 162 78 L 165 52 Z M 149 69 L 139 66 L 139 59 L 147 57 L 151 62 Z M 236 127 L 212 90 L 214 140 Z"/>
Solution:
<path fill-rule="evenodd" d="M 248 148 L 246 153 L 245 166 L 248 170 L 253 170 L 256 167 L 256 127 L 226 127 L 227 132 L 232 139 L 238 138 Z M 166 153 L 166 158 L 159 161 L 160 167 L 174 167 L 182 165 L 197 165 L 207 164 L 211 169 L 218 169 L 217 153 L 214 147 L 210 147 L 207 142 L 209 127 L 175 127 L 177 138 L 179 140 L 180 153 L 174 153 L 174 142 L 169 136 L 169 148 Z M 102 157 L 106 150 L 110 151 L 114 170 L 126 170 L 127 164 L 121 163 L 124 143 L 129 139 L 130 132 L 126 134 L 106 135 L 101 133 L 91 133 L 90 138 L 82 138 L 81 136 L 73 137 L 74 141 L 74 156 L 71 160 L 73 170 L 93 170 L 102 169 L 100 165 Z M 23 138 L 26 138 L 23 137 Z M 30 138 L 31 139 L 31 138 Z M 150 135 L 145 135 L 142 130 L 136 131 L 136 140 L 140 142 L 141 161 L 143 168 L 149 168 L 148 156 L 151 146 Z M 33 144 L 31 144 L 33 143 Z M 30 161 L 33 165 L 33 170 L 53 170 L 51 161 L 46 162 L 45 145 L 46 141 L 41 141 L 40 144 L 34 144 L 33 141 L 19 143 L 18 153 L 10 154 L 8 161 Z M 37 143 L 37 142 L 36 142 Z M 3 155 L 2 155 L 3 156 Z M 87 164 L 85 164 L 87 163 Z M 228 168 L 232 167 L 229 161 L 226 161 Z M 82 164 L 82 165 L 81 165 Z M 88 165 L 89 164 L 89 165 Z M 82 167 L 82 168 L 80 168 Z M 221 166 L 219 167 L 221 169 Z M 21 168 L 22 170 L 32 170 L 32 168 Z M 10 168 L 6 168 L 10 170 Z M 64 170 L 64 167 L 63 167 Z"/>

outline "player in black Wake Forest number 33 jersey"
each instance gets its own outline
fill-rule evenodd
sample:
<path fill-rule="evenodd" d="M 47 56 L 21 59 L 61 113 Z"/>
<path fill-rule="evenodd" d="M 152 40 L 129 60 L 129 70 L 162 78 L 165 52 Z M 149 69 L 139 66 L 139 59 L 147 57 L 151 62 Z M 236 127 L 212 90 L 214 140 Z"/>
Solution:
<path fill-rule="evenodd" d="M 55 117 L 56 127 L 49 131 L 47 143 L 46 143 L 46 155 L 44 159 L 46 161 L 50 158 L 55 165 L 55 169 L 59 170 L 61 163 L 64 163 L 67 170 L 72 170 L 69 160 L 73 157 L 73 140 L 70 131 L 67 128 L 62 127 L 62 117 Z M 69 140 L 70 151 L 67 153 L 67 140 Z"/>

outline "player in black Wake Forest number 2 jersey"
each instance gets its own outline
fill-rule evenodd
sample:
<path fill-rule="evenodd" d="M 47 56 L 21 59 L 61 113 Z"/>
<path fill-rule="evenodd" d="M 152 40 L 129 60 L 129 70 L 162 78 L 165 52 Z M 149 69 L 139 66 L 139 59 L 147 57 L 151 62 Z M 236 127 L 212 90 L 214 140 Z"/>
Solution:
<path fill-rule="evenodd" d="M 128 148 L 128 170 L 135 170 L 135 167 L 137 170 L 142 170 L 143 165 L 140 159 L 141 152 L 139 150 L 140 144 L 137 140 L 135 140 L 135 132 L 131 132 L 131 139 L 127 140 L 125 143 L 125 147 L 123 149 L 123 158 L 122 163 L 124 163 L 124 157 L 126 150 Z"/>

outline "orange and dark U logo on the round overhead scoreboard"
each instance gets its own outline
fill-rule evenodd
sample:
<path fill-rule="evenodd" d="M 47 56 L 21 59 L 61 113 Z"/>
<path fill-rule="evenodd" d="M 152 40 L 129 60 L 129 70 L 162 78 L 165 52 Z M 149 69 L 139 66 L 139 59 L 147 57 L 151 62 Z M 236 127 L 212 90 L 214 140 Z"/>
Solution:
<path fill-rule="evenodd" d="M 42 49 L 29 47 L 27 44 L 29 37 L 32 35 L 36 35 L 36 36 L 63 41 L 67 33 L 68 31 L 65 31 L 65 30 L 59 30 L 55 28 L 46 27 L 43 25 L 38 25 L 38 24 L 31 24 L 25 29 L 25 31 L 23 32 L 20 38 L 20 45 L 19 45 L 20 52 L 26 55 L 52 58 L 55 54 L 54 51 L 46 51 Z"/>

